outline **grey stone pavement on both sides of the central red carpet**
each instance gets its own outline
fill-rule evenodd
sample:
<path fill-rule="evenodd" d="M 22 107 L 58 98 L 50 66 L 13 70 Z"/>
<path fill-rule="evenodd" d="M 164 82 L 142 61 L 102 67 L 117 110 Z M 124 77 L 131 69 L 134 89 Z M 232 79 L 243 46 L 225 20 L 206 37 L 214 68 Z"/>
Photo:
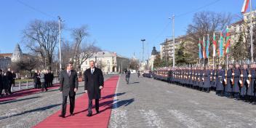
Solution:
<path fill-rule="evenodd" d="M 106 79 L 106 78 L 105 78 Z M 121 75 L 108 127 L 255 127 L 256 105 L 180 87 L 164 81 Z M 83 95 L 79 84 L 76 97 Z M 85 101 L 86 102 L 86 101 Z M 58 89 L 0 103 L 1 127 L 33 127 L 60 110 Z M 68 118 L 67 118 L 68 119 Z"/>

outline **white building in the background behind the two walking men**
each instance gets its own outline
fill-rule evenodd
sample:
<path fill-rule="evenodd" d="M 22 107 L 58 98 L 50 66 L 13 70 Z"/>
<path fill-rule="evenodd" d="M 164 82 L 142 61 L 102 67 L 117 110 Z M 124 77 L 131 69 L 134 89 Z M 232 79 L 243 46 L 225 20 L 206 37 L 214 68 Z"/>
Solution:
<path fill-rule="evenodd" d="M 100 68 L 105 74 L 112 72 L 121 73 L 129 66 L 129 59 L 117 55 L 116 52 L 97 52 L 81 64 L 81 71 L 85 71 L 89 68 L 90 60 L 94 60 L 95 66 Z"/>

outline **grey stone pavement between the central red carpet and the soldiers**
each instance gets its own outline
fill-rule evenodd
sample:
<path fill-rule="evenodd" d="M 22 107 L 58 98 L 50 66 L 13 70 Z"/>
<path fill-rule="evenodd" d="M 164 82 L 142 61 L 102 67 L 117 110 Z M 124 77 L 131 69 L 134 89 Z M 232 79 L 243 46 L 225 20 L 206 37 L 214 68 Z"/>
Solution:
<path fill-rule="evenodd" d="M 108 127 L 255 127 L 256 105 L 131 76 L 119 80 Z"/>

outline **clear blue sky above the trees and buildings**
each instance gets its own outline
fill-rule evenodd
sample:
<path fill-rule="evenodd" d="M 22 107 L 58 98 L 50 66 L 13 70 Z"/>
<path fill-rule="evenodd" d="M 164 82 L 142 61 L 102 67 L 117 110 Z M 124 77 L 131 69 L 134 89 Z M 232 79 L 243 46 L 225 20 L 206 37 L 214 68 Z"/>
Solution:
<path fill-rule="evenodd" d="M 70 28 L 88 26 L 89 36 L 84 42 L 95 42 L 105 51 L 124 57 L 142 58 L 142 41 L 145 55 L 152 47 L 159 51 L 159 44 L 172 37 L 172 20 L 175 15 L 175 37 L 185 35 L 193 23 L 196 12 L 211 11 L 231 13 L 236 21 L 241 15 L 244 0 L 0 0 L 0 52 L 13 52 L 22 43 L 22 31 L 33 20 L 58 20 L 65 23 L 63 38 L 72 41 Z M 252 9 L 256 2 L 252 0 Z M 238 18 L 237 18 L 238 19 Z"/>

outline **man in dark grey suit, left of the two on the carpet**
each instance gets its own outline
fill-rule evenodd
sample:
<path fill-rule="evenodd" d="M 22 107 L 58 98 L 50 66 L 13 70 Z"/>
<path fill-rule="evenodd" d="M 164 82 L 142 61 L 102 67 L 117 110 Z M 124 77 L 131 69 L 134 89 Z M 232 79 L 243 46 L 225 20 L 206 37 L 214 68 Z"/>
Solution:
<path fill-rule="evenodd" d="M 66 70 L 60 72 L 60 92 L 63 93 L 62 111 L 59 115 L 65 118 L 65 111 L 67 107 L 67 98 L 70 100 L 70 113 L 73 116 L 73 109 L 75 108 L 75 95 L 79 86 L 76 71 L 72 70 L 72 63 L 66 64 Z"/>

